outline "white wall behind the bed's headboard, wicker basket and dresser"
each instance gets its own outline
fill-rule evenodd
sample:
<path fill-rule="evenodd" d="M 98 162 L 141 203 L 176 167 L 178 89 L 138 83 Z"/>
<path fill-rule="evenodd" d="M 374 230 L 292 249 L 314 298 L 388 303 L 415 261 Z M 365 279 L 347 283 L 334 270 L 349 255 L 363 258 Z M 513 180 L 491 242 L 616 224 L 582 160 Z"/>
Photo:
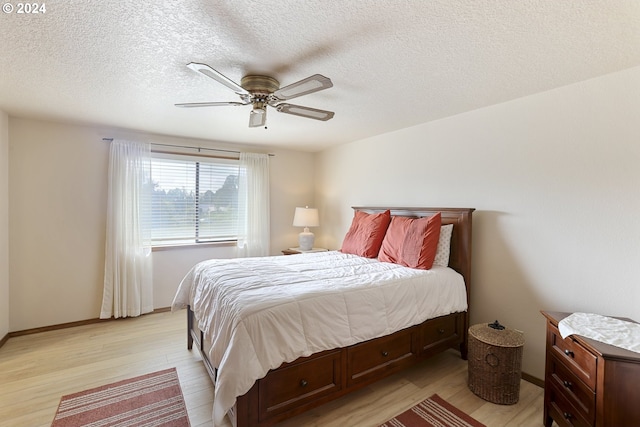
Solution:
<path fill-rule="evenodd" d="M 640 321 L 640 68 L 320 153 L 320 244 L 354 205 L 473 207 L 471 322 L 525 333 L 543 377 L 540 310 Z"/>

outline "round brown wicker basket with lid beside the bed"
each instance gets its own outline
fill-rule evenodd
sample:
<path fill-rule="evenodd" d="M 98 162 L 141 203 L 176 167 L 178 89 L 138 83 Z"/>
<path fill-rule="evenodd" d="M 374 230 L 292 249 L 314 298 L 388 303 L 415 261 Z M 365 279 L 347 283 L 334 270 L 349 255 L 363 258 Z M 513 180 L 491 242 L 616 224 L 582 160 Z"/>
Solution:
<path fill-rule="evenodd" d="M 502 329 L 500 329 L 502 328 Z M 489 402 L 512 405 L 520 398 L 522 332 L 496 320 L 469 328 L 469 389 Z"/>

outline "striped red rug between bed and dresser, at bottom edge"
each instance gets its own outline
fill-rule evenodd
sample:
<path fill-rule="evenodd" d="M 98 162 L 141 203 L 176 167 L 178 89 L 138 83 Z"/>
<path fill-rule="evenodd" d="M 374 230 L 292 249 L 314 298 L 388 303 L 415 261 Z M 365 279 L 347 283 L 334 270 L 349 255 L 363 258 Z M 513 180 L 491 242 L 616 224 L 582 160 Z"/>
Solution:
<path fill-rule="evenodd" d="M 390 419 L 380 427 L 486 427 L 437 394 Z"/>

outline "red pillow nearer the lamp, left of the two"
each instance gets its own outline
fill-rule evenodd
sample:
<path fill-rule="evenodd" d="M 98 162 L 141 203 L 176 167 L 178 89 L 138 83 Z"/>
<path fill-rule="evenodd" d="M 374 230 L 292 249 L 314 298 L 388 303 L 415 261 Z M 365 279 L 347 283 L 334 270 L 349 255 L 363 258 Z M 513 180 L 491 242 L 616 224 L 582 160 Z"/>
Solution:
<path fill-rule="evenodd" d="M 377 214 L 356 211 L 351 227 L 344 236 L 341 252 L 376 258 L 380 252 L 382 239 L 387 232 L 391 212 L 386 210 Z"/>

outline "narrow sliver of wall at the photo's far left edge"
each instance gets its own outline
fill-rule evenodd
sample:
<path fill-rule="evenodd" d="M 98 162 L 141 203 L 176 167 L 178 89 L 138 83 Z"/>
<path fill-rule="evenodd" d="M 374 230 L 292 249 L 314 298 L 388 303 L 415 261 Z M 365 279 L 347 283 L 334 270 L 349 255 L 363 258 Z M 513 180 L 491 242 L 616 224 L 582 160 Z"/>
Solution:
<path fill-rule="evenodd" d="M 9 332 L 9 117 L 0 110 L 0 339 Z"/>

